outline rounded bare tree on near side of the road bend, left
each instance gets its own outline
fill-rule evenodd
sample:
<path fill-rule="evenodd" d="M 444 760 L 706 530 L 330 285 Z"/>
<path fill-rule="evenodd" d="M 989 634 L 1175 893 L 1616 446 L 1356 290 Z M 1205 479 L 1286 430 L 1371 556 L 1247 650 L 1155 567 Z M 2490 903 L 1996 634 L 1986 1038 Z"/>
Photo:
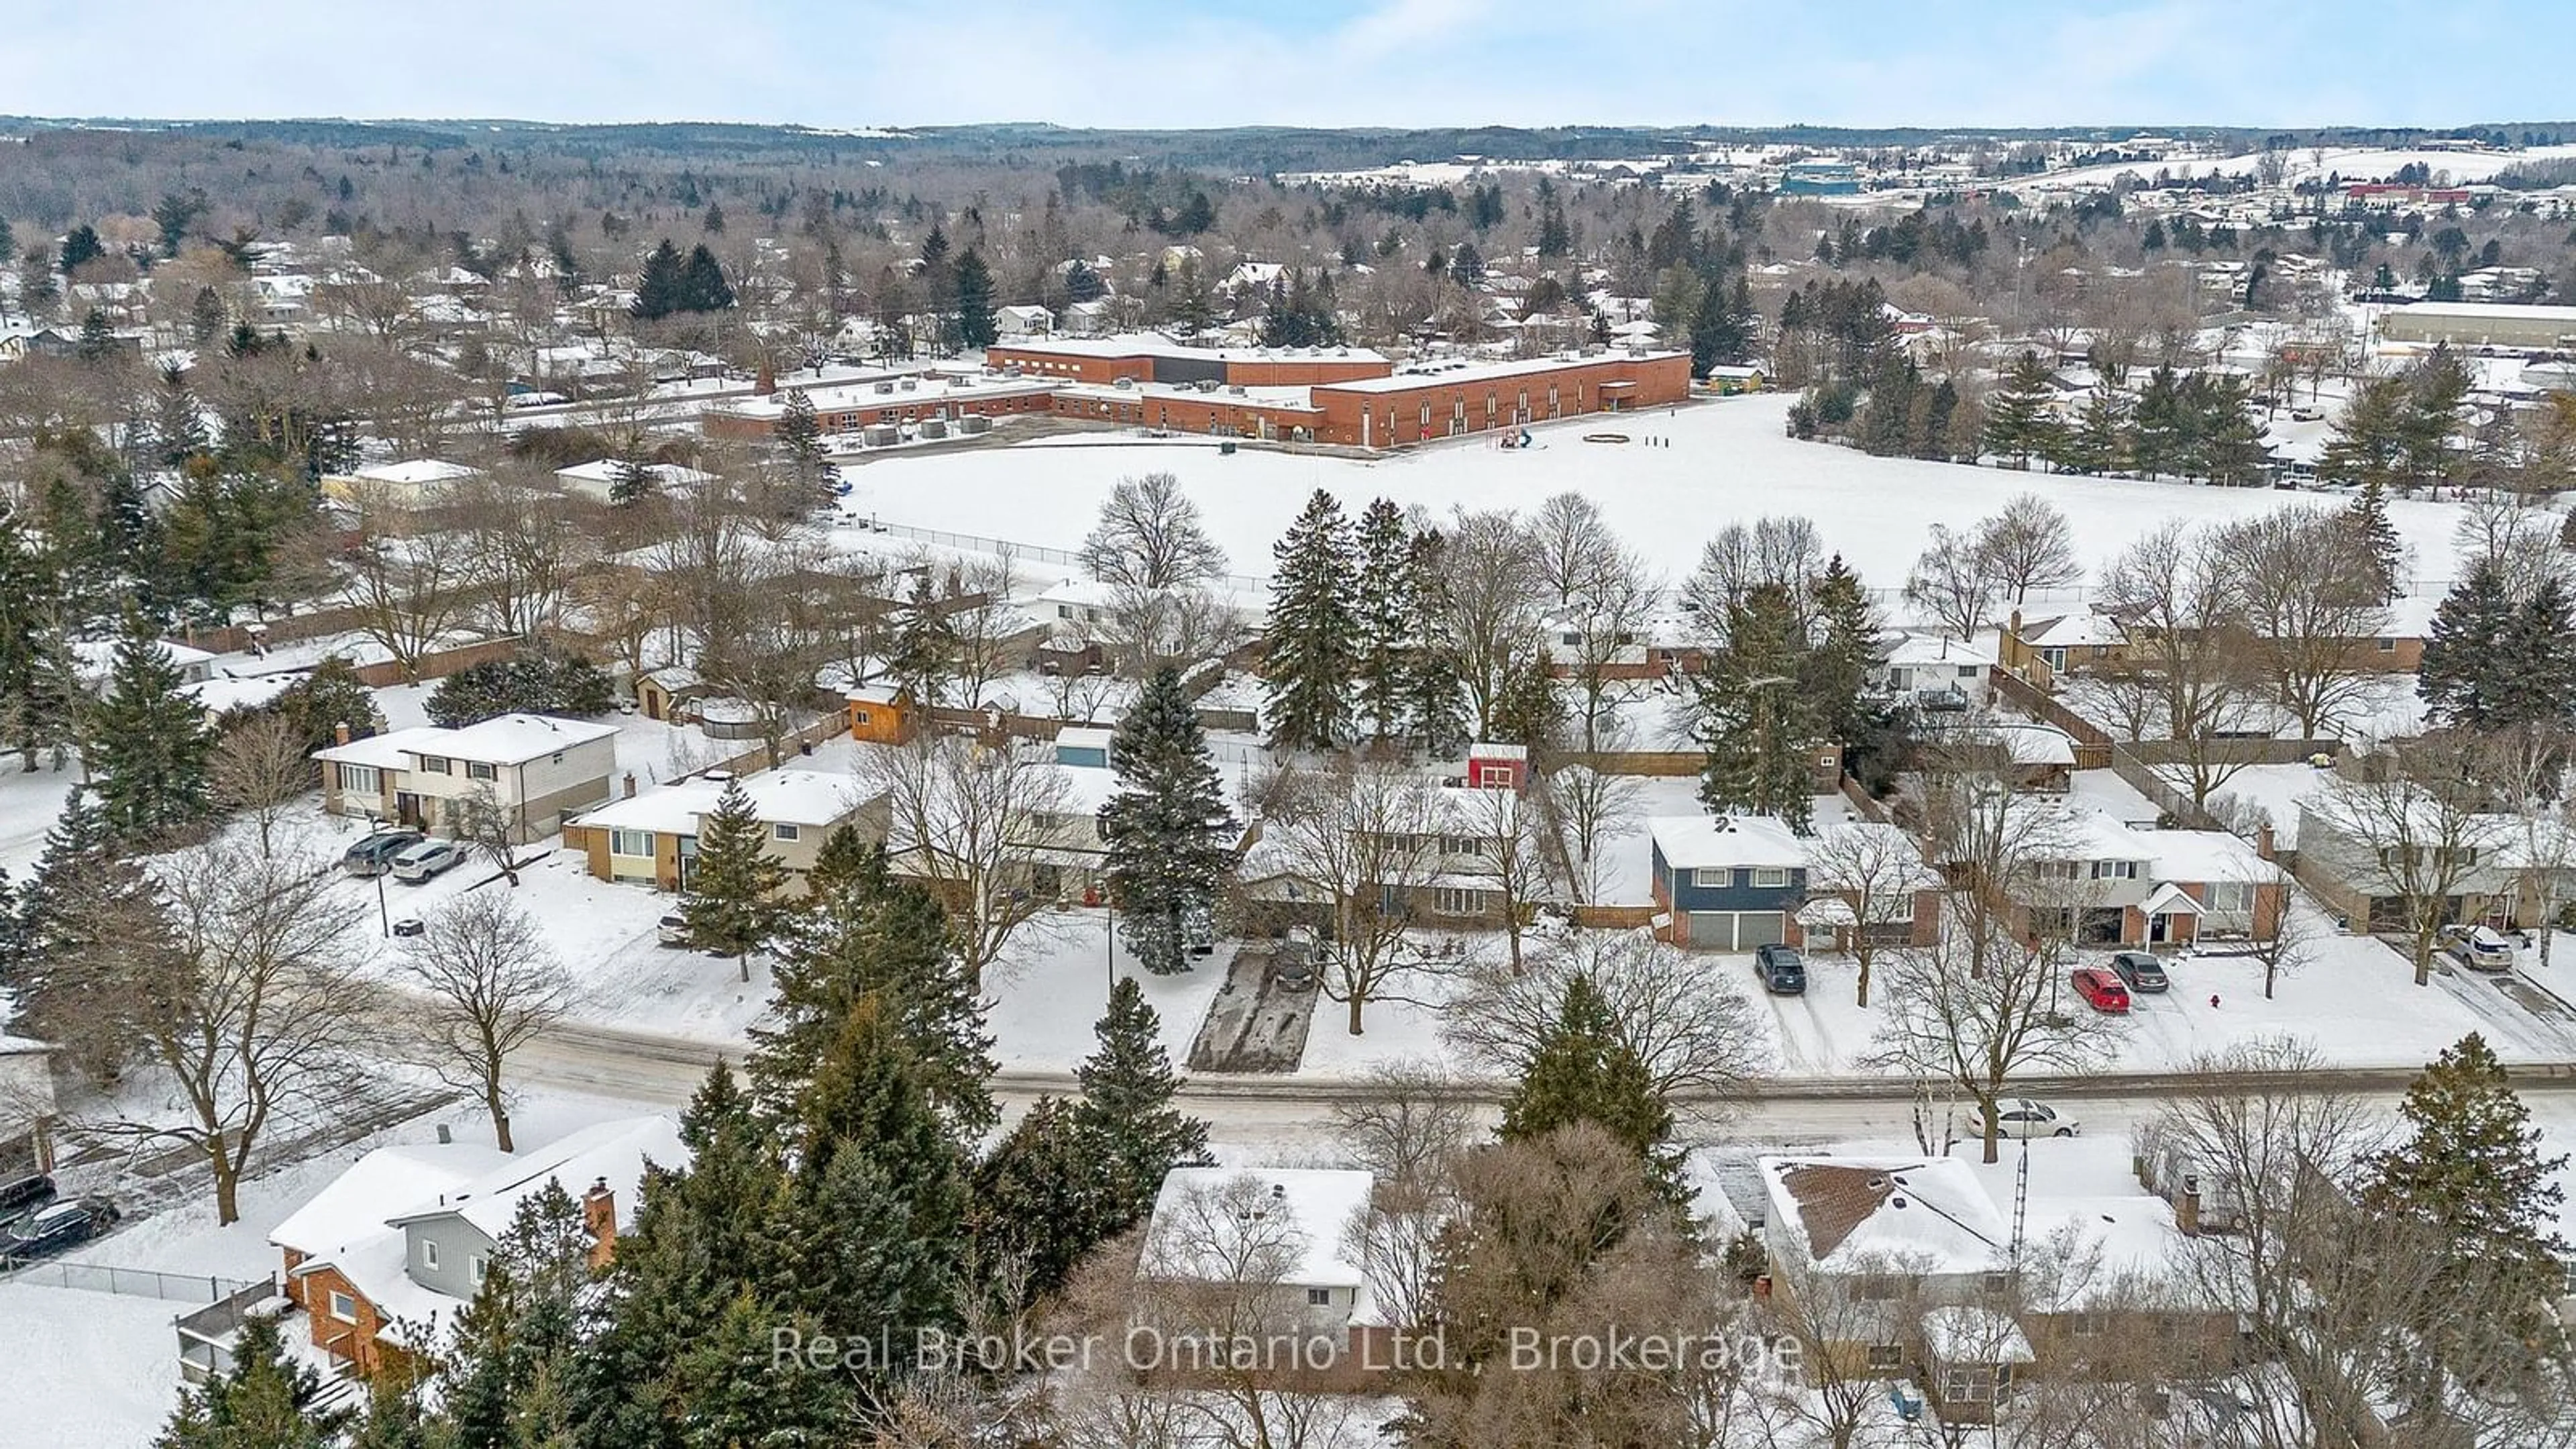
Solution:
<path fill-rule="evenodd" d="M 492 1114 L 492 1142 L 510 1142 L 510 1057 L 564 1018 L 574 987 L 536 920 L 507 895 L 466 892 L 404 941 L 402 972 L 420 998 L 420 1036 L 438 1080 L 474 1093 Z"/>

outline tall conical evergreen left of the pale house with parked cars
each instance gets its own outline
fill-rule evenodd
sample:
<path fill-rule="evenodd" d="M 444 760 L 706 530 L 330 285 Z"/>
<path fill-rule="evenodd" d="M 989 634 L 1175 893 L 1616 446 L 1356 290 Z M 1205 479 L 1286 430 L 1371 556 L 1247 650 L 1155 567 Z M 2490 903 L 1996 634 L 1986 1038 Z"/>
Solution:
<path fill-rule="evenodd" d="M 98 701 L 85 737 L 82 758 L 116 838 L 157 841 L 214 810 L 206 709 L 180 688 L 170 650 L 142 614 L 126 616 L 108 696 Z"/>

